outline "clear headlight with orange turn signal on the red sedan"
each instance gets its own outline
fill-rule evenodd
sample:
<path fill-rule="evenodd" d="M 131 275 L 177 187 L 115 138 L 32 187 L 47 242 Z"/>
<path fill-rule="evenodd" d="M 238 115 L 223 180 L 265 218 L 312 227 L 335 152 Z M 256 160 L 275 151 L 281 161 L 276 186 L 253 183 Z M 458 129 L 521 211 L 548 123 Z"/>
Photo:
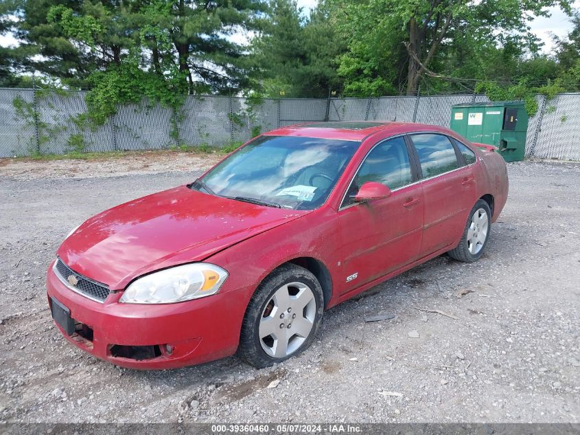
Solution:
<path fill-rule="evenodd" d="M 170 304 L 205 298 L 217 293 L 227 277 L 227 271 L 208 263 L 170 267 L 132 282 L 119 302 Z"/>

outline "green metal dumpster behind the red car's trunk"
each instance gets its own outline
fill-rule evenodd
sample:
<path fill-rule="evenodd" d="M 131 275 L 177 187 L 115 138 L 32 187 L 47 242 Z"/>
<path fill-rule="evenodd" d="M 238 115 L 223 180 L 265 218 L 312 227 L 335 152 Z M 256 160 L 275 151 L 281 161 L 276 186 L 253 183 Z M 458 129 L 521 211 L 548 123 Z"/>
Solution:
<path fill-rule="evenodd" d="M 524 102 L 455 104 L 451 129 L 472 142 L 497 146 L 505 161 L 524 159 L 528 131 Z"/>

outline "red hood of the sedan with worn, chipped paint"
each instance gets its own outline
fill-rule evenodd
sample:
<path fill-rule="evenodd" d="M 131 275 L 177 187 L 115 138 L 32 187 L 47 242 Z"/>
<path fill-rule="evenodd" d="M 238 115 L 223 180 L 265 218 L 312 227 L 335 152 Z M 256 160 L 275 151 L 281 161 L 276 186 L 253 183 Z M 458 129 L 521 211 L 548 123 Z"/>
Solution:
<path fill-rule="evenodd" d="M 137 276 L 204 260 L 308 213 L 181 186 L 93 216 L 62 243 L 57 255 L 78 274 L 111 289 L 124 289 Z"/>

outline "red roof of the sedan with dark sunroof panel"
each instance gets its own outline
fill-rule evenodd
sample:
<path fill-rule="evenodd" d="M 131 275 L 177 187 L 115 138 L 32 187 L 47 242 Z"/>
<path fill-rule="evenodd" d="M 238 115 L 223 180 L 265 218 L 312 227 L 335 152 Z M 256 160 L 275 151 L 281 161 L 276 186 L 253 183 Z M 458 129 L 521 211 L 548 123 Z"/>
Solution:
<path fill-rule="evenodd" d="M 281 127 L 268 131 L 270 136 L 301 136 L 319 139 L 337 139 L 362 141 L 365 137 L 378 131 L 389 131 L 393 135 L 414 131 L 440 131 L 451 133 L 438 126 L 415 124 L 413 122 L 379 122 L 379 121 L 329 121 L 309 122 Z"/>

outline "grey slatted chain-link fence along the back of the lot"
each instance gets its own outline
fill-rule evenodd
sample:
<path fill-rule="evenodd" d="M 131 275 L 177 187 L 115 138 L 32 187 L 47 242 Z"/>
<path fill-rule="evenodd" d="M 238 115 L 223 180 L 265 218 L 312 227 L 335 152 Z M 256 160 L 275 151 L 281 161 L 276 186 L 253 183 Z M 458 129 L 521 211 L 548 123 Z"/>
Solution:
<path fill-rule="evenodd" d="M 546 101 L 530 118 L 527 157 L 580 160 L 580 93 Z M 105 124 L 79 122 L 84 93 L 0 89 L 0 157 L 76 151 L 225 146 L 252 135 L 303 122 L 376 120 L 448 127 L 454 104 L 486 102 L 480 95 L 381 98 L 189 96 L 177 113 L 143 102 L 119 107 Z"/>

